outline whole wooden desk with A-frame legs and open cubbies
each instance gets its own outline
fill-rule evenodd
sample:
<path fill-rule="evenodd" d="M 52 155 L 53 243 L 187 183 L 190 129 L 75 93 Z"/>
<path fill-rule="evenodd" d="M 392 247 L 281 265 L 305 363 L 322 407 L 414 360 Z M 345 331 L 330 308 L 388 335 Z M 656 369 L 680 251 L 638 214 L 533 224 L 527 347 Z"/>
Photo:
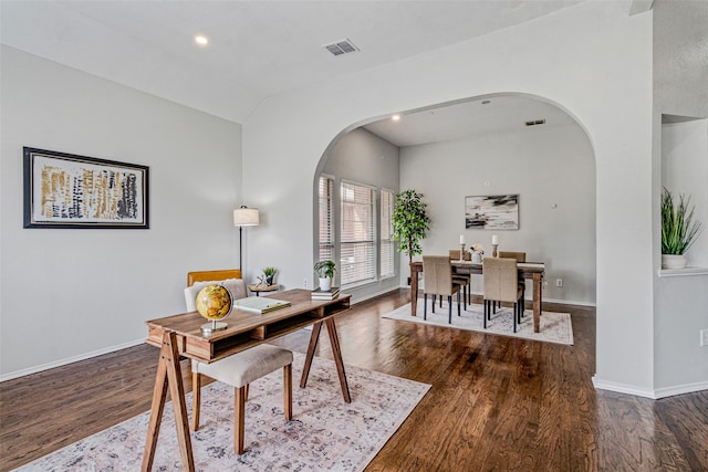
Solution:
<path fill-rule="evenodd" d="M 334 324 L 334 316 L 350 308 L 351 295 L 340 294 L 339 298 L 332 301 L 312 301 L 310 300 L 309 290 L 290 290 L 280 292 L 277 295 L 278 300 L 287 300 L 292 305 L 262 315 L 235 310 L 225 318 L 229 326 L 208 337 L 201 334 L 200 326 L 205 323 L 205 318 L 197 312 L 146 322 L 148 327 L 146 343 L 159 347 L 160 355 L 157 363 L 155 389 L 153 390 L 150 420 L 147 438 L 145 439 L 143 471 L 149 471 L 153 468 L 155 447 L 157 445 L 157 437 L 167 399 L 167 388 L 169 388 L 175 409 L 175 424 L 177 427 L 183 466 L 185 470 L 195 470 L 185 389 L 179 366 L 180 357 L 188 357 L 201 363 L 212 363 L 246 350 L 249 347 L 313 325 L 300 379 L 300 387 L 304 388 L 310 375 L 314 350 L 320 339 L 320 331 L 324 323 L 332 345 L 332 355 L 340 377 L 342 396 L 345 402 L 350 403 L 352 401 L 346 382 L 346 374 L 344 373 L 344 363 L 342 361 L 340 339 Z"/>

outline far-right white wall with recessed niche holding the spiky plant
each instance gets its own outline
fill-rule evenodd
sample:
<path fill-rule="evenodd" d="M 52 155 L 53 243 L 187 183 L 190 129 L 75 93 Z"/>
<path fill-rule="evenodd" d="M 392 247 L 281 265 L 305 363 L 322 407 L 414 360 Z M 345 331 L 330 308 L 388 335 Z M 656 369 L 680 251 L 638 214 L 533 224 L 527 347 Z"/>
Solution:
<path fill-rule="evenodd" d="M 708 389 L 708 232 L 686 253 L 704 270 L 660 271 L 662 186 L 690 193 L 708 224 L 708 2 L 654 2 L 654 323 L 655 396 Z M 662 115 L 704 118 L 662 126 Z M 664 272 L 664 273 L 663 273 Z M 659 274 L 662 274 L 659 276 Z"/>

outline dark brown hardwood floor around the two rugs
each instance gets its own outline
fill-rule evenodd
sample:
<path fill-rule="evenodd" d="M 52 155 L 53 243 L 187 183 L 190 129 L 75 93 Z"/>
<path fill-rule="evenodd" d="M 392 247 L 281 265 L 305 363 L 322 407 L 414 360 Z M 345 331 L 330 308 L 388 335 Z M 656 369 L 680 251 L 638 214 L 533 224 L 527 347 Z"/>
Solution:
<path fill-rule="evenodd" d="M 433 386 L 367 471 L 708 470 L 708 391 L 595 390 L 593 310 L 544 304 L 572 313 L 575 345 L 562 346 L 382 318 L 407 296 L 337 317 L 346 364 Z M 324 331 L 317 355 L 332 358 Z M 278 344 L 304 352 L 308 339 Z M 157 354 L 143 345 L 0 384 L 0 470 L 148 410 Z"/>

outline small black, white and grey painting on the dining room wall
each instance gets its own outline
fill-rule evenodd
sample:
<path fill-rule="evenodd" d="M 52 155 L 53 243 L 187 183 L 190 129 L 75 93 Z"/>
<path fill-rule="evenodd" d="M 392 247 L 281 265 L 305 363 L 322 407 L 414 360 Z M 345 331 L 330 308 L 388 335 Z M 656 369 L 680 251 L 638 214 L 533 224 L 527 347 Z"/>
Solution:
<path fill-rule="evenodd" d="M 519 195 L 465 197 L 465 228 L 518 230 Z"/>

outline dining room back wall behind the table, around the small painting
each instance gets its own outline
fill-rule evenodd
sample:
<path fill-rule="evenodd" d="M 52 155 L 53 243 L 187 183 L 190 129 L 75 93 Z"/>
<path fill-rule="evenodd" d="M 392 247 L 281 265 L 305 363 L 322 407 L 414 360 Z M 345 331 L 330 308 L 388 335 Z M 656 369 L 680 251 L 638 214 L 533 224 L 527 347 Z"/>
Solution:
<path fill-rule="evenodd" d="M 545 262 L 544 300 L 595 303 L 595 158 L 580 126 L 405 147 L 400 162 L 402 188 L 425 195 L 433 220 L 426 253 L 459 249 L 464 234 L 467 248 L 478 242 L 490 254 L 493 233 L 500 251 Z M 519 195 L 519 230 L 465 229 L 466 196 L 507 193 Z M 402 273 L 408 275 L 407 260 Z M 481 293 L 481 277 L 472 282 Z"/>

